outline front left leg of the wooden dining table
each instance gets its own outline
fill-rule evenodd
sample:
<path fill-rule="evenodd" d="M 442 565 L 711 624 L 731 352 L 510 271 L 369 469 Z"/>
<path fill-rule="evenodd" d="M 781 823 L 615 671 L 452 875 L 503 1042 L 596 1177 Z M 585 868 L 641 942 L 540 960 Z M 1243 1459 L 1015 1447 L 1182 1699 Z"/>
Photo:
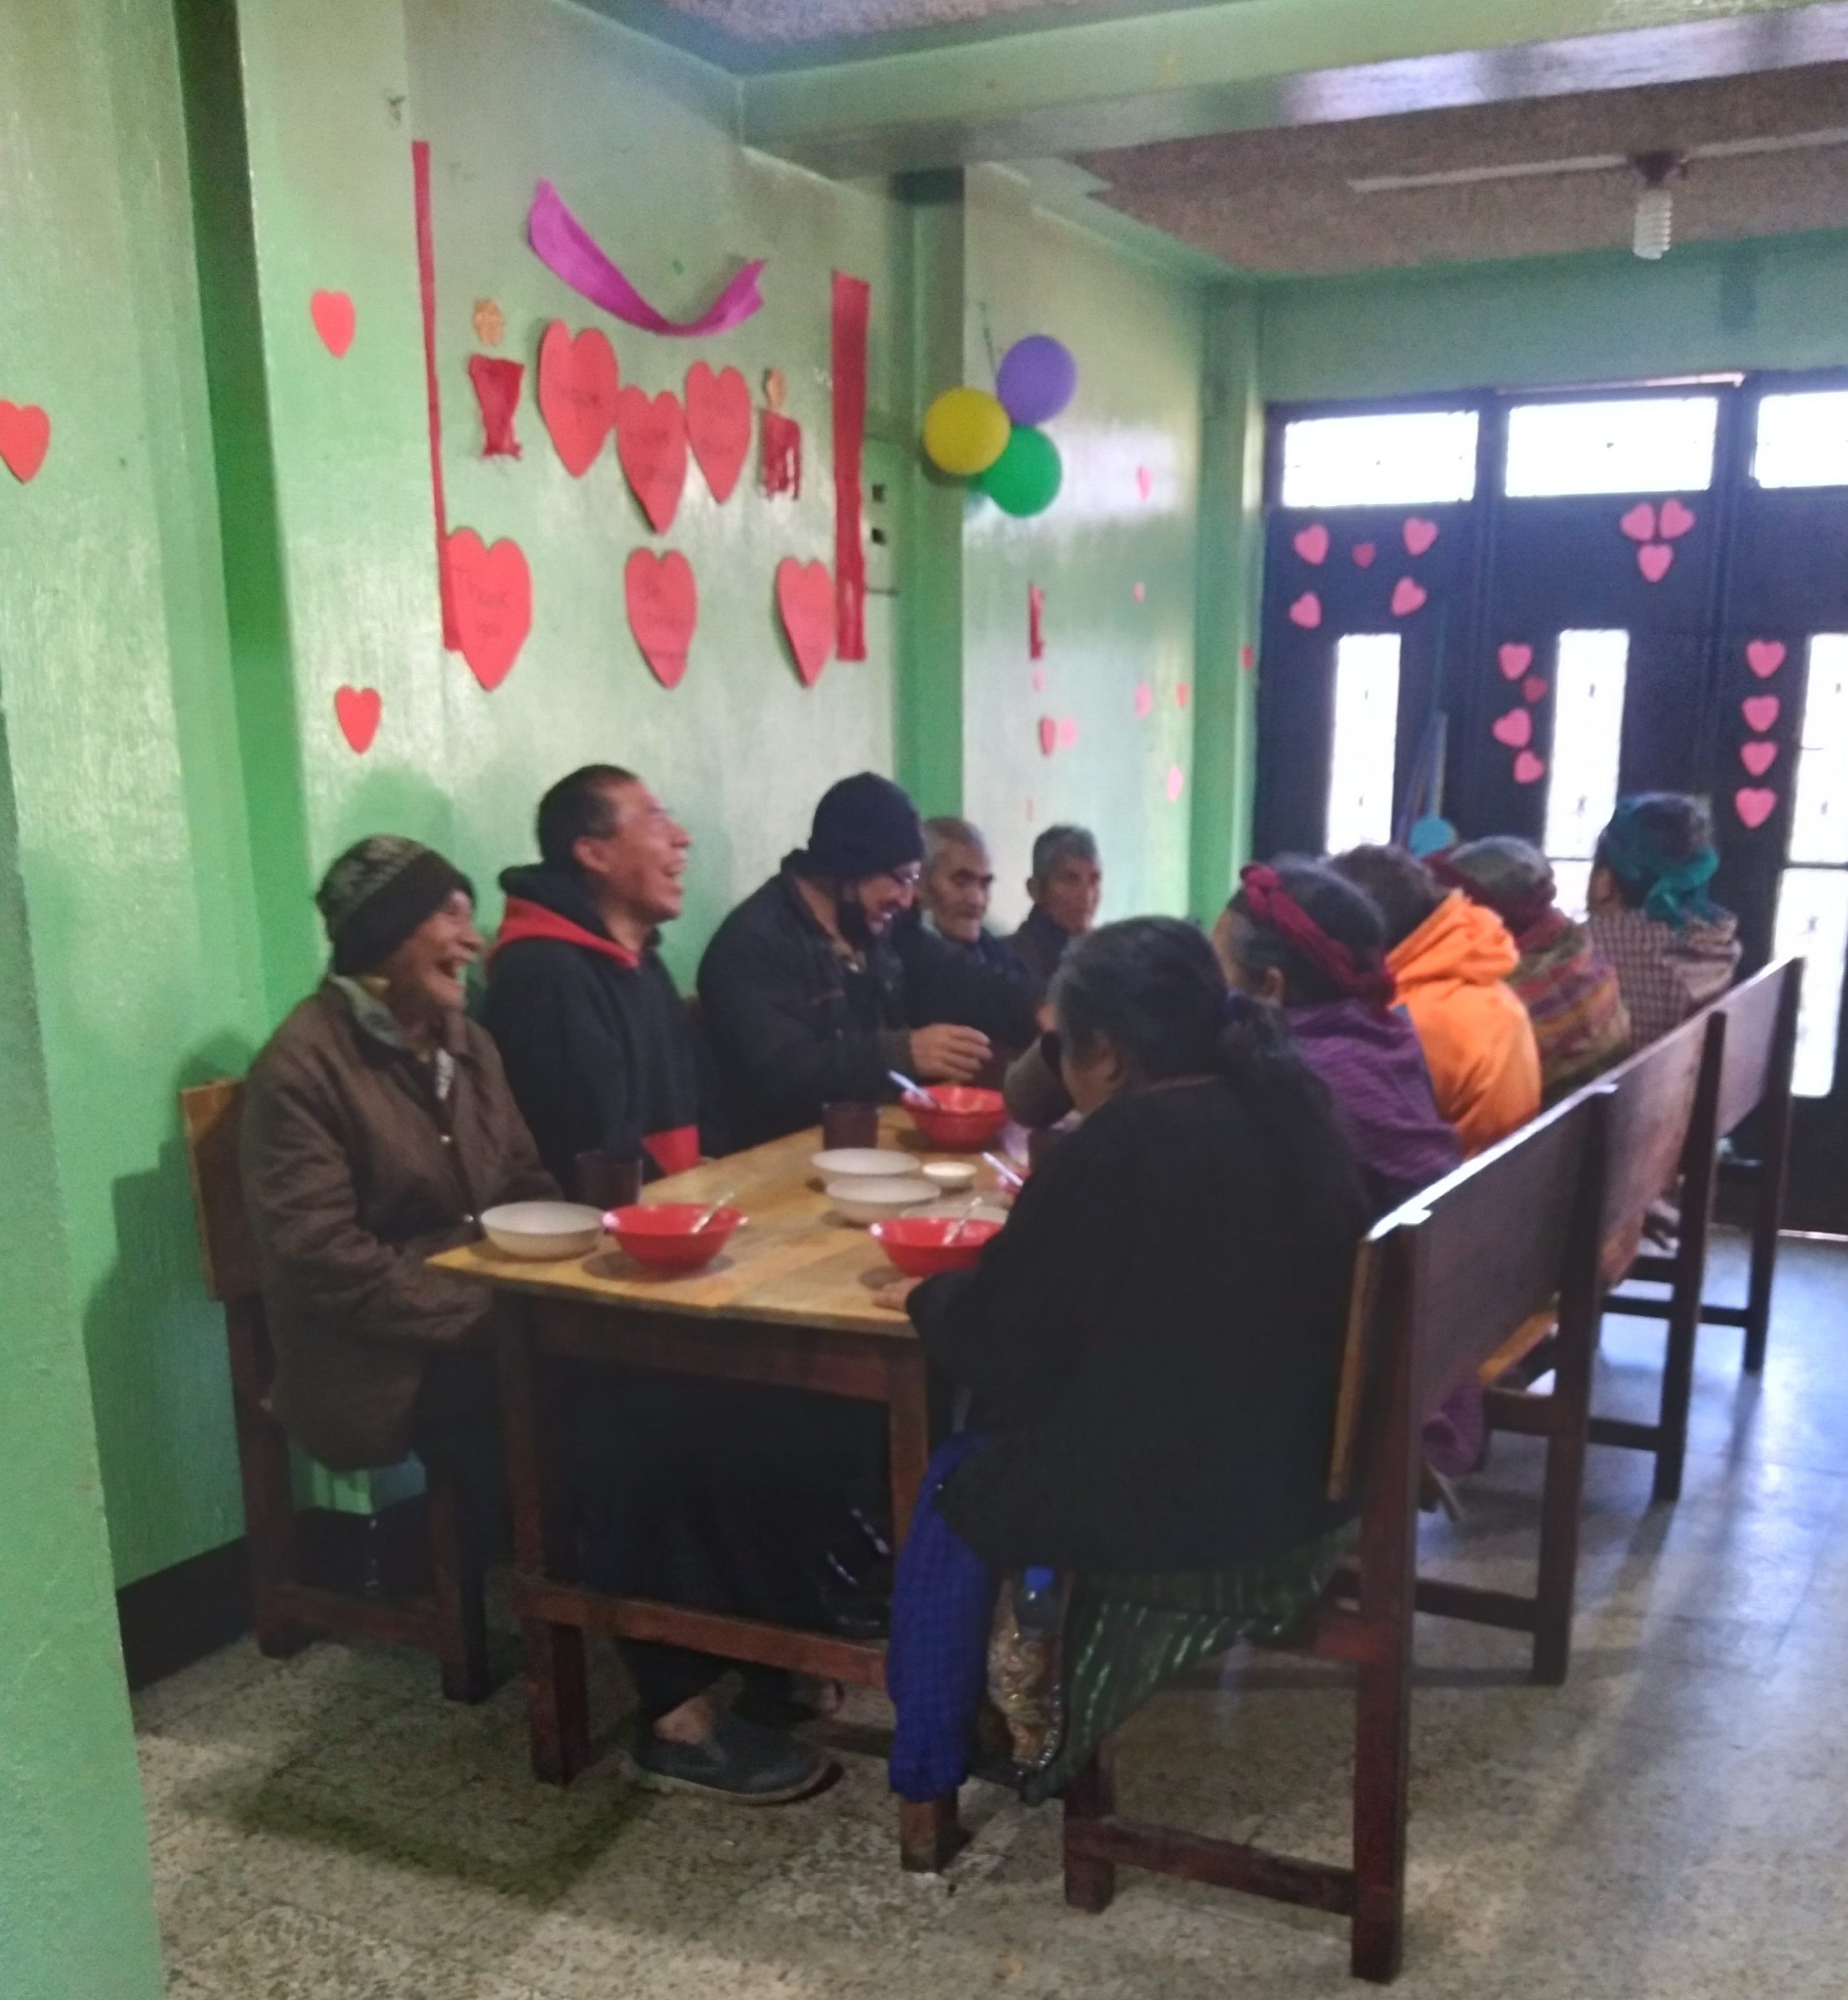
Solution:
<path fill-rule="evenodd" d="M 506 1430 L 506 1482 L 514 1516 L 518 1580 L 570 1580 L 576 1566 L 566 1546 L 566 1514 L 558 1474 L 540 1436 L 540 1396 L 534 1368 L 534 1318 L 524 1300 L 500 1314 L 500 1406 Z M 516 1580 L 516 1590 L 518 1590 Z M 532 1768 L 546 1784 L 570 1784 L 590 1762 L 590 1700 L 584 1682 L 584 1634 L 544 1618 L 520 1620 L 526 1646 L 526 1722 Z"/>

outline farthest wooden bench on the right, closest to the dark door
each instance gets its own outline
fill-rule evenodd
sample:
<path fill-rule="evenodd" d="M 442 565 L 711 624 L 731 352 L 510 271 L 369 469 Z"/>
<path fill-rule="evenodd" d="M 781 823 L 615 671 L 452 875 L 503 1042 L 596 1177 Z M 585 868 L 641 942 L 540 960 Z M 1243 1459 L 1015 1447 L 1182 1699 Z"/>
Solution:
<path fill-rule="evenodd" d="M 1694 1340 L 1700 1326 L 1744 1328 L 1746 1372 L 1758 1374 L 1764 1368 L 1778 1230 L 1784 1220 L 1790 1072 L 1796 1062 L 1800 1002 L 1802 960 L 1786 958 L 1734 986 L 1706 1010 L 1712 1032 L 1720 1038 L 1720 1054 L 1710 1082 L 1710 1116 L 1702 1108 L 1688 1134 L 1682 1226 L 1672 1254 L 1638 1256 L 1628 1272 L 1634 1282 L 1668 1284 L 1672 1298 L 1614 1292 L 1604 1302 L 1606 1312 L 1670 1322 L 1660 1422 L 1654 1426 L 1598 1422 L 1592 1430 L 1600 1444 L 1628 1444 L 1656 1452 L 1656 1500 L 1680 1498 L 1688 1442 L 1688 1398 L 1694 1386 Z M 1720 1142 L 1738 1132 L 1754 1114 L 1760 1120 L 1758 1158 L 1722 1158 Z M 1742 1182 L 1752 1192 L 1752 1248 L 1744 1306 L 1708 1302 L 1700 1296 L 1706 1284 L 1708 1210 L 1716 1186 L 1728 1178 Z M 1696 1210 L 1694 1228 L 1688 1226 L 1690 1208 Z M 1674 1300 L 1682 1302 L 1680 1316 L 1674 1312 Z"/>

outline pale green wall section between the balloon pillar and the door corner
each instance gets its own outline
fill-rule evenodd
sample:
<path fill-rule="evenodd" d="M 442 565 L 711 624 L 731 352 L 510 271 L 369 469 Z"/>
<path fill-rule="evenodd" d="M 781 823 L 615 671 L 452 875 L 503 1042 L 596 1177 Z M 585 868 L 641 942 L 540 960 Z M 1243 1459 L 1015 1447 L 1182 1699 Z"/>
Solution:
<path fill-rule="evenodd" d="M 1046 426 L 1058 500 L 1010 520 L 972 494 L 964 514 L 962 804 L 994 846 L 996 920 L 1026 914 L 1032 838 L 1056 820 L 1096 830 L 1106 916 L 1184 910 L 1202 294 L 1038 212 L 998 168 L 968 174 L 966 236 L 964 380 L 992 386 L 990 348 L 1024 334 L 1056 334 L 1078 360 L 1078 394 Z M 1076 724 L 1076 744 L 1048 756 L 1042 720 Z"/>

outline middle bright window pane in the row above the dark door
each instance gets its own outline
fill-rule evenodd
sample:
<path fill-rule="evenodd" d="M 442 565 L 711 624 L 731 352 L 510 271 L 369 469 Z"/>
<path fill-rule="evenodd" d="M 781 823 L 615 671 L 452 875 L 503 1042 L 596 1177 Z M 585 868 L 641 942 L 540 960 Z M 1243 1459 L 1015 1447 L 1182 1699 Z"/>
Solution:
<path fill-rule="evenodd" d="M 1714 478 L 1716 396 L 1518 402 L 1508 410 L 1516 500 L 1554 494 L 1702 492 Z"/>

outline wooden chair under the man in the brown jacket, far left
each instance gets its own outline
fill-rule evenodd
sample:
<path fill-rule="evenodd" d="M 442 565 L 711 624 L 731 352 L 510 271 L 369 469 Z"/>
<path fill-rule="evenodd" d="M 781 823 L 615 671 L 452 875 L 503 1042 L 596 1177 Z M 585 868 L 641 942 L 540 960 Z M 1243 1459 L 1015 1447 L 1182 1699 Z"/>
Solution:
<path fill-rule="evenodd" d="M 464 1554 L 456 1488 L 436 1466 L 424 1468 L 432 1604 L 388 1604 L 302 1578 L 288 1434 L 266 1402 L 274 1356 L 238 1176 L 242 1098 L 244 1086 L 236 1080 L 182 1090 L 180 1120 L 206 1296 L 224 1306 L 230 1346 L 256 1644 L 274 1660 L 300 1652 L 316 1634 L 418 1646 L 434 1654 L 442 1668 L 442 1692 L 452 1702 L 486 1700 L 482 1568 L 480 1560 Z"/>

